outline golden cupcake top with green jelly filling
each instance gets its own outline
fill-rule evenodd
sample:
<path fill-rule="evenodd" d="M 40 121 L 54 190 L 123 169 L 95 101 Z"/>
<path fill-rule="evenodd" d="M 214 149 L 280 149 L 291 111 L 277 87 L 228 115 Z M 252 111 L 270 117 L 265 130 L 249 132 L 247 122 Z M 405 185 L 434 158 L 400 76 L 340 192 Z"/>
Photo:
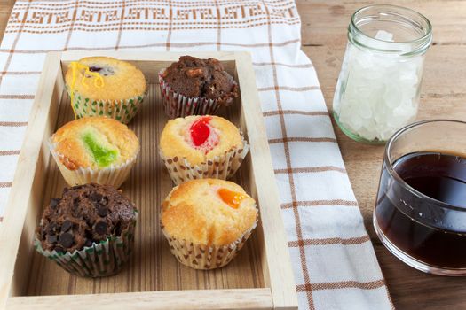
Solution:
<path fill-rule="evenodd" d="M 118 120 L 88 117 L 73 120 L 51 136 L 51 147 L 70 170 L 119 166 L 138 154 L 138 137 Z"/>

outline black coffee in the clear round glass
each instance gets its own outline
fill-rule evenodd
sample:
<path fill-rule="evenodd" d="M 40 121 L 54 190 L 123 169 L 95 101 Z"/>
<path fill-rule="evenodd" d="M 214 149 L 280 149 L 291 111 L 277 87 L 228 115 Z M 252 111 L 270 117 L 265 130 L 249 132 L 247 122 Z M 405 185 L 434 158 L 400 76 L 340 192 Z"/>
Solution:
<path fill-rule="evenodd" d="M 466 214 L 466 159 L 419 152 L 401 157 L 393 167 L 415 190 L 460 210 L 464 208 Z M 388 178 L 389 174 L 383 172 L 381 188 L 388 187 Z M 466 222 L 459 221 L 459 212 L 436 210 L 432 204 L 419 201 L 407 190 L 391 187 L 387 195 L 380 190 L 375 217 L 383 234 L 403 252 L 430 265 L 466 267 Z M 423 213 L 429 214 L 426 221 Z M 416 218 L 417 214 L 420 216 Z"/>

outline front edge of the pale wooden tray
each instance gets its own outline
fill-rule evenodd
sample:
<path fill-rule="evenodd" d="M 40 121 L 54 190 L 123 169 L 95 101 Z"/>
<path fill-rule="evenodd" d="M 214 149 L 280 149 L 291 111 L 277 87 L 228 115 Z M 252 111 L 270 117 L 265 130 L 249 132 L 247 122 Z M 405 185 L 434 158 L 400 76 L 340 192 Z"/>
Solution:
<path fill-rule="evenodd" d="M 92 308 L 164 310 L 164 309 L 272 309 L 270 289 L 199 290 L 199 291 L 142 291 L 119 294 L 54 295 L 13 297 L 7 309 L 15 310 L 82 310 Z"/>

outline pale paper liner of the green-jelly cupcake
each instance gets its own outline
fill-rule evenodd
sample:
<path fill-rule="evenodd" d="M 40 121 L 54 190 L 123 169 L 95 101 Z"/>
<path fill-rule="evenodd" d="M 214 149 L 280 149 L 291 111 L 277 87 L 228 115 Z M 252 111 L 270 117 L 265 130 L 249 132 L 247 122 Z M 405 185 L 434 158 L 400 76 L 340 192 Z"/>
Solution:
<path fill-rule="evenodd" d="M 120 188 L 122 183 L 126 181 L 130 175 L 131 168 L 136 163 L 138 154 L 132 159 L 126 160 L 122 165 L 111 165 L 102 169 L 91 169 L 90 167 L 79 167 L 76 170 L 70 170 L 63 162 L 67 162 L 68 159 L 61 153 L 55 151 L 55 145 L 49 142 L 51 155 L 57 162 L 59 171 L 69 186 L 82 185 L 86 183 L 98 183 L 98 184 L 109 184 Z"/>

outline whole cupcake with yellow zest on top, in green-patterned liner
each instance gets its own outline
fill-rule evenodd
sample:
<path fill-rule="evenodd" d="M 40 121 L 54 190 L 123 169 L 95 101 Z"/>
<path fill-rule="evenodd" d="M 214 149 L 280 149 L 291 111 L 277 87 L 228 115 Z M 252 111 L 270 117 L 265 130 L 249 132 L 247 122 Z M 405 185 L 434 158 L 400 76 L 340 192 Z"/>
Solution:
<path fill-rule="evenodd" d="M 72 62 L 65 81 L 76 119 L 107 116 L 127 124 L 146 94 L 144 74 L 126 61 L 109 57 Z"/>

